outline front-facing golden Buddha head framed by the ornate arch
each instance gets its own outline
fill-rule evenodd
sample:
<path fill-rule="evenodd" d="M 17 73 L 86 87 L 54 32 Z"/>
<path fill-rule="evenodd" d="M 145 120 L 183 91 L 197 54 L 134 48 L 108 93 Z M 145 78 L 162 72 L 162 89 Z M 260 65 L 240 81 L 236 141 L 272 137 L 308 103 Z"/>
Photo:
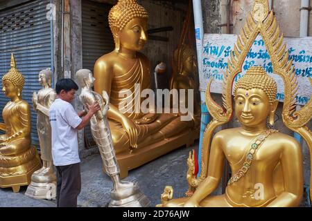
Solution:
<path fill-rule="evenodd" d="M 273 125 L 278 104 L 276 93 L 275 80 L 261 66 L 250 68 L 234 88 L 235 113 L 239 122 L 245 126 L 257 126 L 266 123 L 269 117 Z"/>

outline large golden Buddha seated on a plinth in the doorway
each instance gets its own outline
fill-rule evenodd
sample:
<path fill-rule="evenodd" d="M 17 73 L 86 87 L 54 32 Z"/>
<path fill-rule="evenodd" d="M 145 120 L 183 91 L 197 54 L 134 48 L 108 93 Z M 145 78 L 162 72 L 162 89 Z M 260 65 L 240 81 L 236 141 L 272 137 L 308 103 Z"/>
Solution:
<path fill-rule="evenodd" d="M 109 23 L 115 49 L 96 61 L 94 90 L 99 94 L 105 90 L 110 96 L 107 117 L 121 177 L 125 177 L 130 169 L 193 144 L 199 130 L 194 132 L 193 121 L 183 122 L 179 114 L 157 114 L 154 108 L 148 113 L 134 111 L 144 102 L 141 91 L 151 84 L 150 61 L 139 52 L 147 41 L 148 13 L 136 0 L 119 0 L 110 10 Z M 130 95 L 119 97 L 123 90 Z M 123 113 L 120 106 L 130 112 Z"/>

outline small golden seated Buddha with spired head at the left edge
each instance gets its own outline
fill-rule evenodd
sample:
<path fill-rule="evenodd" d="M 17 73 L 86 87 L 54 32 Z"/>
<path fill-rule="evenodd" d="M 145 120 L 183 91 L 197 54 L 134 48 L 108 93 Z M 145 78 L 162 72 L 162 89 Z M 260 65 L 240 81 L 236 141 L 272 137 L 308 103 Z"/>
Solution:
<path fill-rule="evenodd" d="M 14 192 L 20 186 L 31 182 L 31 175 L 40 169 L 41 162 L 35 146 L 31 144 L 31 108 L 21 99 L 24 77 L 15 67 L 11 57 L 11 69 L 2 77 L 6 97 L 11 101 L 3 108 L 4 124 L 0 130 L 0 187 L 12 187 Z"/>

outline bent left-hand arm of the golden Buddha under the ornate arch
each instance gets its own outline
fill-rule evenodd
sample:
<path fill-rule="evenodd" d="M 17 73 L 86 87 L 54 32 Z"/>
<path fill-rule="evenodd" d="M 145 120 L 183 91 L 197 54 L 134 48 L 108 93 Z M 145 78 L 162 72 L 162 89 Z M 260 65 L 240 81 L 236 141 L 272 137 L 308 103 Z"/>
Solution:
<path fill-rule="evenodd" d="M 212 140 L 207 177 L 200 183 L 196 191 L 184 204 L 184 206 L 199 206 L 199 203 L 204 198 L 206 198 L 215 189 L 218 188 L 225 161 L 225 155 L 220 145 L 222 138 L 224 139 L 224 137 L 218 137 L 215 135 L 214 139 Z"/>

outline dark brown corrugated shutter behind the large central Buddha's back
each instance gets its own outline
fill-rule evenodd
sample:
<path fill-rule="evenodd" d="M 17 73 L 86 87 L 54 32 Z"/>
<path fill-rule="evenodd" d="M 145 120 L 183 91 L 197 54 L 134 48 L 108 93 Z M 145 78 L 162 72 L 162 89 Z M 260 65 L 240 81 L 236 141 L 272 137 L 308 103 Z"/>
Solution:
<path fill-rule="evenodd" d="M 110 8 L 110 4 L 82 1 L 83 68 L 93 71 L 96 59 L 114 50 L 114 39 L 108 25 Z M 89 126 L 85 128 L 85 143 L 87 148 L 95 145 Z"/>

